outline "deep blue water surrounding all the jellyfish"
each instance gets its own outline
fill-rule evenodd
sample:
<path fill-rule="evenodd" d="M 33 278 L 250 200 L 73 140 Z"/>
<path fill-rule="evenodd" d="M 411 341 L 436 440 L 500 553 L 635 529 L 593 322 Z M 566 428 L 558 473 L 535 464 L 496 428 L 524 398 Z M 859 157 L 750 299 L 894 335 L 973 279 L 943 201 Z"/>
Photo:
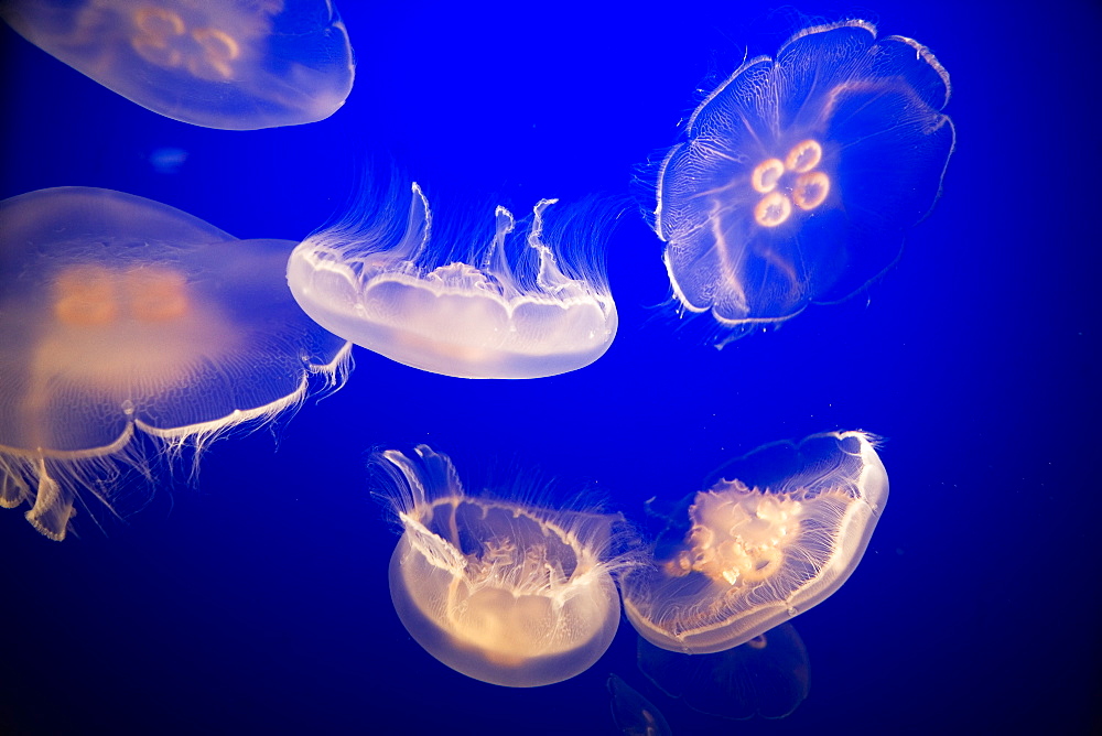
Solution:
<path fill-rule="evenodd" d="M 730 0 L 341 10 L 347 105 L 256 132 L 148 112 L 3 29 L 0 195 L 117 188 L 301 239 L 390 159 L 487 218 L 624 194 L 698 87 L 807 22 Z M 196 485 L 165 479 L 106 534 L 78 521 L 57 544 L 0 515 L 0 732 L 614 734 L 611 671 L 674 733 L 1098 728 L 1102 17 L 1061 0 L 800 10 L 915 37 L 952 75 L 944 195 L 867 297 L 701 346 L 655 309 L 661 243 L 631 213 L 608 252 L 620 332 L 584 370 L 464 381 L 357 350 L 343 391 L 274 436 L 217 443 Z M 151 164 L 165 147 L 187 152 L 174 174 Z M 439 664 L 391 608 L 374 446 L 426 442 L 473 487 L 538 468 L 637 513 L 758 444 L 833 429 L 887 437 L 892 497 L 850 582 L 795 621 L 811 694 L 787 719 L 693 721 L 648 689 L 626 623 L 590 671 L 517 691 Z"/>

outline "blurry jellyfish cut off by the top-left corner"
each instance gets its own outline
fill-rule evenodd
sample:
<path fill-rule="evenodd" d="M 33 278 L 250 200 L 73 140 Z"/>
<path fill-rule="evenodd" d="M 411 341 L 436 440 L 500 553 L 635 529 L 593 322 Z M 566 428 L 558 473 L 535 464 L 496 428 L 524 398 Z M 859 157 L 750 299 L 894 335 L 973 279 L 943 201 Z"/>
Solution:
<path fill-rule="evenodd" d="M 328 0 L 0 0 L 0 17 L 108 89 L 204 128 L 323 120 L 352 90 Z"/>

